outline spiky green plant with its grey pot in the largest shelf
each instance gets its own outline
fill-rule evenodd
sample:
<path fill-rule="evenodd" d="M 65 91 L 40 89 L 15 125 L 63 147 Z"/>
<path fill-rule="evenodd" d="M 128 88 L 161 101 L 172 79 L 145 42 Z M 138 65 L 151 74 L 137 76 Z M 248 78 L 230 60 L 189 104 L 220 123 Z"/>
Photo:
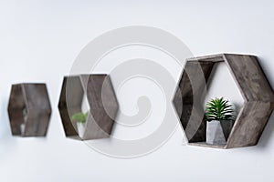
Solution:
<path fill-rule="evenodd" d="M 235 120 L 231 106 L 223 97 L 211 99 L 206 104 L 206 143 L 226 145 Z"/>

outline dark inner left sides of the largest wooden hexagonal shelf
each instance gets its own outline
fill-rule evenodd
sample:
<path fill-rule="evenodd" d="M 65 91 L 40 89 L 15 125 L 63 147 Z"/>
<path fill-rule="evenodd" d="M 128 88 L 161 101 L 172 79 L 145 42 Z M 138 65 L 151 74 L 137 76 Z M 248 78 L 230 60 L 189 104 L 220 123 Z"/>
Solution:
<path fill-rule="evenodd" d="M 210 61 L 186 62 L 181 82 L 174 96 L 174 107 L 180 116 L 185 136 L 189 142 L 205 141 L 202 103 L 205 100 L 206 82 L 214 65 L 215 62 Z"/>

